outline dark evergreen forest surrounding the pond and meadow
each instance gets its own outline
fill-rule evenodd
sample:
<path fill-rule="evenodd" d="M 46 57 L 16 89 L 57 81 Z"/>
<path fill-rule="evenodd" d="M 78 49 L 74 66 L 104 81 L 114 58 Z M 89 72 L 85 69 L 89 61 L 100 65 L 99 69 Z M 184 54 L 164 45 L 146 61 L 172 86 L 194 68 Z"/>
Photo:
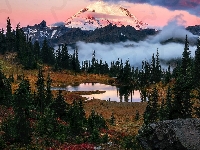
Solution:
<path fill-rule="evenodd" d="M 1 149 L 30 148 L 49 149 L 69 144 L 79 144 L 94 149 L 102 143 L 118 143 L 109 136 L 109 126 L 115 124 L 115 116 L 106 120 L 94 110 L 86 116 L 80 99 L 66 103 L 62 91 L 52 93 L 52 79 L 43 75 L 43 65 L 53 72 L 68 70 L 78 74 L 98 74 L 116 77 L 112 83 L 119 87 L 122 95 L 128 96 L 134 90 L 140 91 L 141 103 L 147 103 L 143 114 L 136 112 L 135 119 L 142 118 L 143 125 L 162 120 L 200 117 L 200 39 L 197 41 L 195 56 L 191 57 L 187 35 L 181 57 L 174 65 L 162 68 L 159 51 L 152 54 L 151 61 L 142 61 L 141 68 L 131 66 L 129 60 L 121 59 L 104 62 L 96 59 L 93 51 L 91 60 L 79 61 L 78 49 L 68 52 L 66 44 L 58 49 L 49 46 L 44 40 L 32 43 L 31 37 L 24 34 L 18 24 L 12 30 L 7 19 L 6 31 L 0 30 L 0 54 L 13 54 L 12 63 L 22 65 L 24 70 L 38 70 L 35 90 L 29 79 L 13 74 L 5 75 L 0 69 L 0 105 L 7 115 L 1 119 Z M 119 142 L 124 149 L 142 149 L 134 136 L 124 136 Z M 81 149 L 81 148 L 80 148 Z"/>

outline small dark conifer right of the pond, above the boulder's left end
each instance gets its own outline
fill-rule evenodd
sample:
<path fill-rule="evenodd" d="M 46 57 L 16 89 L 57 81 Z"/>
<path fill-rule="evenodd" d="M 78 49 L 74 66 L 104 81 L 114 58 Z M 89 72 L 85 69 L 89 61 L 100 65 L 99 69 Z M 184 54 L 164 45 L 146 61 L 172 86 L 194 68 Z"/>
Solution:
<path fill-rule="evenodd" d="M 152 94 L 148 96 L 147 107 L 143 117 L 145 125 L 158 120 L 158 91 L 156 87 L 153 88 Z"/>

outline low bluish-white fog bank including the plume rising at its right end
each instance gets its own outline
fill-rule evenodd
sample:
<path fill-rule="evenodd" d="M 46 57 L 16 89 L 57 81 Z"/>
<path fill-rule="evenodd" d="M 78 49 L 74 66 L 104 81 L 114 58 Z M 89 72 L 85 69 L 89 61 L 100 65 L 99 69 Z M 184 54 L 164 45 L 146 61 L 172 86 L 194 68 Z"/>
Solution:
<path fill-rule="evenodd" d="M 95 50 L 96 58 L 106 61 L 109 65 L 111 61 L 116 61 L 118 58 L 123 62 L 129 59 L 132 66 L 141 66 L 143 60 L 151 60 L 153 53 L 156 54 L 158 49 L 160 59 L 171 59 L 182 56 L 184 50 L 184 44 L 181 43 L 168 43 L 161 44 L 170 38 L 185 39 L 188 35 L 188 39 L 191 42 L 197 40 L 198 36 L 193 35 L 189 31 L 180 25 L 183 21 L 181 15 L 175 19 L 169 21 L 168 25 L 156 36 L 148 37 L 145 41 L 140 42 L 120 42 L 120 43 L 85 43 L 77 42 L 79 59 L 80 61 L 91 60 L 92 53 Z M 71 49 L 72 50 L 72 49 Z M 191 56 L 194 56 L 196 46 L 190 46 Z"/>

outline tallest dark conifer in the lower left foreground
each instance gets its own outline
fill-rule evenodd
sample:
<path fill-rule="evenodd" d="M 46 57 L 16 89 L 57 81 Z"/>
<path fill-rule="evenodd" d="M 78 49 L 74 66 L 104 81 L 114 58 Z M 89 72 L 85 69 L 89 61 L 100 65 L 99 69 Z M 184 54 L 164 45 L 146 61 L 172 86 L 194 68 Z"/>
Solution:
<path fill-rule="evenodd" d="M 21 144 L 31 142 L 32 129 L 30 127 L 29 113 L 31 103 L 31 90 L 29 81 L 23 79 L 19 88 L 14 93 L 14 122 L 16 129 L 16 141 Z"/>

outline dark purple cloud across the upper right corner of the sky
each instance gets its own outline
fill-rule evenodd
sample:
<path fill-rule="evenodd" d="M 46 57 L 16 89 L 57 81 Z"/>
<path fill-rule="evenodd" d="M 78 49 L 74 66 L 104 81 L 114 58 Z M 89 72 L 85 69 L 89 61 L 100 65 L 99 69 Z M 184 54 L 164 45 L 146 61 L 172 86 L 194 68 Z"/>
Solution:
<path fill-rule="evenodd" d="M 96 1 L 96 0 L 91 0 Z M 121 0 L 104 0 L 106 2 L 120 2 Z M 129 3 L 140 3 L 162 6 L 170 10 L 186 10 L 192 14 L 200 16 L 199 0 L 124 0 Z"/>

